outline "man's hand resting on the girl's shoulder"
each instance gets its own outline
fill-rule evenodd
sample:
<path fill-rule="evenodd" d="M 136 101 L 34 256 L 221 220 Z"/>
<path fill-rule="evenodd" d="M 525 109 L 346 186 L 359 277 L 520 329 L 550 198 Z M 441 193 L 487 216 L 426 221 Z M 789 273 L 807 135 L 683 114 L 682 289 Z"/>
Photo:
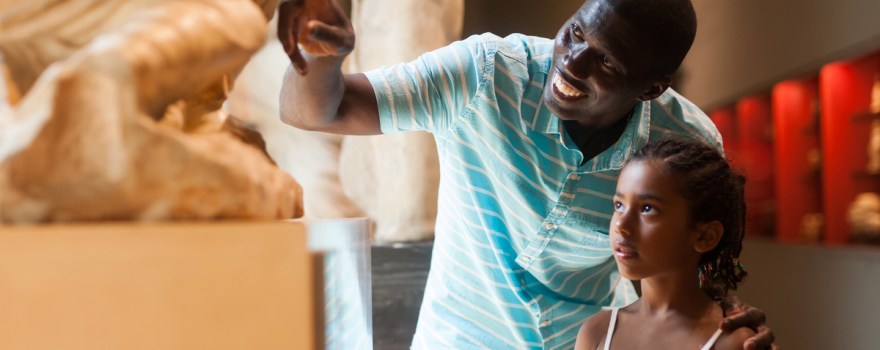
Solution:
<path fill-rule="evenodd" d="M 724 310 L 725 318 L 721 321 L 721 329 L 731 332 L 740 327 L 748 327 L 755 331 L 755 336 L 746 340 L 743 344 L 745 350 L 778 349 L 773 344 L 776 337 L 773 331 L 765 324 L 767 316 L 764 311 L 743 304 L 739 298 L 728 296 L 721 300 L 721 309 Z"/>

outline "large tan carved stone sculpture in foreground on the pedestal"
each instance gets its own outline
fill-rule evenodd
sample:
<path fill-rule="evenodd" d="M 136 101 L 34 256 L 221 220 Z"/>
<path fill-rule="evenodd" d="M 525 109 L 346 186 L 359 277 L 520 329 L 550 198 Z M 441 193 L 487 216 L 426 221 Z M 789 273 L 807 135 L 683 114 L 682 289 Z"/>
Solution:
<path fill-rule="evenodd" d="M 220 109 L 272 0 L 0 0 L 0 221 L 302 215 Z"/>

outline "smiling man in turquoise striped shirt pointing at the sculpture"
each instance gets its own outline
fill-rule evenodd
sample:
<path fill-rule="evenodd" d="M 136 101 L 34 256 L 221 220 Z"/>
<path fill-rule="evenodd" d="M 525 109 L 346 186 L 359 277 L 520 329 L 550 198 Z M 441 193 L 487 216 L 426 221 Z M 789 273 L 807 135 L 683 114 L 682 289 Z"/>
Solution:
<path fill-rule="evenodd" d="M 281 6 L 298 71 L 285 77 L 282 119 L 437 141 L 436 238 L 413 347 L 570 348 L 586 317 L 635 300 L 608 243 L 621 164 L 649 140 L 721 147 L 705 114 L 668 89 L 694 38 L 689 1 L 588 0 L 555 41 L 474 36 L 351 75 L 339 69 L 350 25 L 310 2 Z M 747 348 L 770 346 L 763 313 L 735 304 L 727 328 L 758 328 Z"/>

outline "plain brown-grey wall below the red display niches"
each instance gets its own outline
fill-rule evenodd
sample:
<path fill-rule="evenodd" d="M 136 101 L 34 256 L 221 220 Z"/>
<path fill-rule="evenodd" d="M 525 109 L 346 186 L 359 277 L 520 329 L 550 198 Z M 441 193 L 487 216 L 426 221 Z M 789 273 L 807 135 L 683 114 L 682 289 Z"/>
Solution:
<path fill-rule="evenodd" d="M 782 349 L 878 349 L 880 250 L 746 239 L 736 293 L 767 313 Z"/>

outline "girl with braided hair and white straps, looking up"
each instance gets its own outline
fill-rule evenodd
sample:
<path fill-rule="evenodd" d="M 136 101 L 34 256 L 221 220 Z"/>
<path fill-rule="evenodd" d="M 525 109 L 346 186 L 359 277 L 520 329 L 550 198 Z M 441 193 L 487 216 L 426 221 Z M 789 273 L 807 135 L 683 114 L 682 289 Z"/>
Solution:
<path fill-rule="evenodd" d="M 718 328 L 715 302 L 736 289 L 744 178 L 714 148 L 665 140 L 636 152 L 614 195 L 609 238 L 639 300 L 590 317 L 575 349 L 738 349 L 754 332 Z"/>

